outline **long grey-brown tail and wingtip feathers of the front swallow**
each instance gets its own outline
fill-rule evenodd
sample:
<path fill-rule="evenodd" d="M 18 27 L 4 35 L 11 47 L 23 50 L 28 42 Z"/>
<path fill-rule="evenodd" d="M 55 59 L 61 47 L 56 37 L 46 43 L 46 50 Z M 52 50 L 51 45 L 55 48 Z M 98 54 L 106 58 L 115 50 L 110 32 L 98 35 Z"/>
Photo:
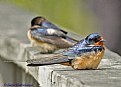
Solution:
<path fill-rule="evenodd" d="M 30 59 L 26 61 L 27 66 L 43 66 L 43 65 L 52 65 L 52 64 L 64 64 L 69 65 L 70 60 L 67 56 L 62 54 L 50 54 L 46 57 L 41 57 L 38 59 Z"/>

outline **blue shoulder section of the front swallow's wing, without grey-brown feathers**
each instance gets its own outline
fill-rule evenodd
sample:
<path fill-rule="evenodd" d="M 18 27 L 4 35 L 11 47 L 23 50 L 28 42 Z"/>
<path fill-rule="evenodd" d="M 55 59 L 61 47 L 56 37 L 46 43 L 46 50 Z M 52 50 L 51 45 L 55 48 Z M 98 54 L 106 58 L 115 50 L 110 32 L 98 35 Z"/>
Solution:
<path fill-rule="evenodd" d="M 97 52 L 100 52 L 104 50 L 104 47 L 102 46 L 85 46 L 85 47 L 72 47 L 68 51 L 64 52 L 63 55 L 69 56 L 69 59 L 74 59 L 75 57 L 78 56 L 83 56 L 83 55 L 92 55 L 96 54 Z"/>

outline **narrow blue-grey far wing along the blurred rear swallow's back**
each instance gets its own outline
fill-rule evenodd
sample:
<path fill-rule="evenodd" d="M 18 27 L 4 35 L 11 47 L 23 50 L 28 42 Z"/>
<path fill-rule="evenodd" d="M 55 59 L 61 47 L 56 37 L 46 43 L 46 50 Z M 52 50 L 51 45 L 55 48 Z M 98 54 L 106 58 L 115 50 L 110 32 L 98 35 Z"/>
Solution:
<path fill-rule="evenodd" d="M 60 28 L 57 27 L 56 25 L 52 24 L 51 22 L 47 21 L 47 20 L 44 21 L 44 22 L 42 23 L 42 26 L 43 26 L 43 27 L 53 28 L 53 29 L 62 31 L 64 34 L 67 34 L 67 33 L 68 33 L 68 32 L 66 32 L 66 31 L 60 29 Z"/>

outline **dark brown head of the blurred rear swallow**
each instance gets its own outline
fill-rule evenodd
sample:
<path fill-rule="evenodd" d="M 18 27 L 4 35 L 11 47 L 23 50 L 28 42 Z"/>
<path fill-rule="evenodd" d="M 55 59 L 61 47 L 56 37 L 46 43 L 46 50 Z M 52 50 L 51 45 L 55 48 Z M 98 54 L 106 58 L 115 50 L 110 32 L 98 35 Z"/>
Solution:
<path fill-rule="evenodd" d="M 42 22 L 45 21 L 46 19 L 42 16 L 37 16 L 35 18 L 32 19 L 31 21 L 31 26 L 34 26 L 34 25 L 39 25 L 41 26 Z"/>

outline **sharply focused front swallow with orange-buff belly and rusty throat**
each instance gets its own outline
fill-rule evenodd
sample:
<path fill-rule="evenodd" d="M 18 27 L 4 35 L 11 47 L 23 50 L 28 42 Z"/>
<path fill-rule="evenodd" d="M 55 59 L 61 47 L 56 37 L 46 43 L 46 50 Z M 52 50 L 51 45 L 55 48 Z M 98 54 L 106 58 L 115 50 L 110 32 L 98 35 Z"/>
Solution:
<path fill-rule="evenodd" d="M 27 60 L 27 63 L 28 66 L 67 64 L 76 70 L 97 69 L 104 51 L 104 39 L 98 33 L 92 33 L 61 53 Z"/>

